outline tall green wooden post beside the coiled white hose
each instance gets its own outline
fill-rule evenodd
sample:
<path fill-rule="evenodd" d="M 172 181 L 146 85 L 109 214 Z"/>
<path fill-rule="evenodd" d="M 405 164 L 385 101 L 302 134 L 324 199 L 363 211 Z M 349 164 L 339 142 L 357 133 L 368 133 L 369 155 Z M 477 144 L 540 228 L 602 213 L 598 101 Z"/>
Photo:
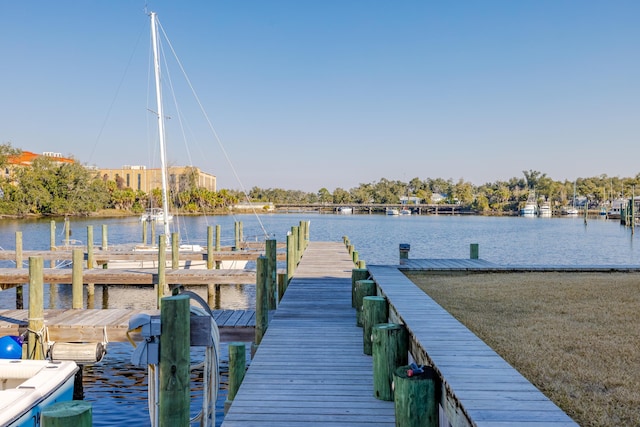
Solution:
<path fill-rule="evenodd" d="M 163 242 L 161 242 L 163 243 Z M 160 408 L 161 426 L 188 426 L 191 354 L 189 296 L 162 299 L 160 309 Z"/>

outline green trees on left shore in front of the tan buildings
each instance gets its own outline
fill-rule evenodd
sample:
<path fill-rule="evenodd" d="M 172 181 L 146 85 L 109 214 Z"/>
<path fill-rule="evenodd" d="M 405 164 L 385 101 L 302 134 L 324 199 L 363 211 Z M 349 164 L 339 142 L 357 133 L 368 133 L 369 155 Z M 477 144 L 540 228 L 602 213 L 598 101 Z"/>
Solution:
<path fill-rule="evenodd" d="M 80 163 L 59 163 L 36 157 L 29 166 L 12 166 L 9 159 L 20 150 L 0 144 L 0 214 L 90 215 L 103 210 L 137 214 L 162 206 L 160 189 L 145 193 L 126 187 L 122 179 L 107 180 Z M 195 180 L 169 194 L 172 209 L 191 213 L 218 213 L 238 202 L 227 191 L 197 187 Z"/>

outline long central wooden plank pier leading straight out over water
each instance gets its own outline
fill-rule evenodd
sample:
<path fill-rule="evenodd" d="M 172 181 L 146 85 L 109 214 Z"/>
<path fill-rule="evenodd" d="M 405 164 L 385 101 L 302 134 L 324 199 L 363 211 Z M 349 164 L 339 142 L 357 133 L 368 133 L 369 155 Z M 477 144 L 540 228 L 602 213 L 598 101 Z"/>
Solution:
<path fill-rule="evenodd" d="M 373 397 L 342 243 L 310 242 L 225 419 L 235 426 L 395 426 Z"/>

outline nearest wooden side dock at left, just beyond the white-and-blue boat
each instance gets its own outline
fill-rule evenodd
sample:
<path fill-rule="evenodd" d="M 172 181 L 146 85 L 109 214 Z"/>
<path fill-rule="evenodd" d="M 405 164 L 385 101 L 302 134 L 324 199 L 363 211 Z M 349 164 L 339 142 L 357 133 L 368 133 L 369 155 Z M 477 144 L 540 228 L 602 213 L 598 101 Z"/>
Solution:
<path fill-rule="evenodd" d="M 129 319 L 136 314 L 159 315 L 160 310 L 54 309 L 45 310 L 45 325 L 52 341 L 101 342 L 103 329 L 109 341 L 127 341 Z M 253 341 L 255 310 L 213 310 L 222 341 Z M 27 328 L 28 310 L 0 310 L 0 337 L 20 335 Z"/>

